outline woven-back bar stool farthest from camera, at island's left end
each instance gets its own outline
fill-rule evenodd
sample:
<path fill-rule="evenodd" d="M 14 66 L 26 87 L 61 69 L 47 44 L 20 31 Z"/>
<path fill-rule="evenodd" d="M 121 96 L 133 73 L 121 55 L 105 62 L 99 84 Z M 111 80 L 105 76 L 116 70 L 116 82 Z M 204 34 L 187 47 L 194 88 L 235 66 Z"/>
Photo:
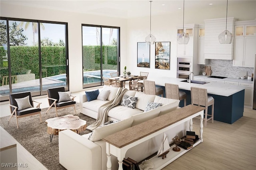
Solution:
<path fill-rule="evenodd" d="M 143 83 L 144 83 L 145 94 L 161 95 L 162 97 L 164 96 L 164 90 L 160 87 L 156 87 L 156 84 L 154 81 L 143 80 Z"/>

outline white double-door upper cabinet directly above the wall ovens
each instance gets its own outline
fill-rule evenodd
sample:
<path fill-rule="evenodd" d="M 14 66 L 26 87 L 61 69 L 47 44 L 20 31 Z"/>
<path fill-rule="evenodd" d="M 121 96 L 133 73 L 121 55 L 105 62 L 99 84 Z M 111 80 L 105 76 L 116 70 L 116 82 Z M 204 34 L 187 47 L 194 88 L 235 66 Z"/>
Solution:
<path fill-rule="evenodd" d="M 177 36 L 183 32 L 183 26 L 177 27 Z M 196 57 L 198 41 L 198 24 L 184 25 L 184 32 L 189 35 L 188 44 L 179 44 L 177 41 L 177 57 Z"/>

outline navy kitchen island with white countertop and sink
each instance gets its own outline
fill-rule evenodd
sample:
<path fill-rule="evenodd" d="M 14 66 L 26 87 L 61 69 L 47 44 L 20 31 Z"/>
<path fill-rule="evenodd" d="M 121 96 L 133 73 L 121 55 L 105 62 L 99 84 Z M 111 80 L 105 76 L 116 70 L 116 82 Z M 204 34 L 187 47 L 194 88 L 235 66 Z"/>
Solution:
<path fill-rule="evenodd" d="M 178 84 L 181 91 L 186 92 L 186 105 L 191 104 L 190 87 L 206 88 L 208 96 L 214 98 L 214 120 L 232 124 L 244 113 L 244 87 L 230 84 L 222 84 L 219 82 L 209 82 L 206 84 L 196 84 L 182 82 L 181 78 L 170 77 L 154 77 L 148 78 L 153 80 L 156 86 L 164 89 L 165 83 Z M 165 89 L 164 89 L 165 94 Z M 183 101 L 181 104 L 184 103 Z M 211 114 L 211 107 L 208 108 L 208 113 Z"/>

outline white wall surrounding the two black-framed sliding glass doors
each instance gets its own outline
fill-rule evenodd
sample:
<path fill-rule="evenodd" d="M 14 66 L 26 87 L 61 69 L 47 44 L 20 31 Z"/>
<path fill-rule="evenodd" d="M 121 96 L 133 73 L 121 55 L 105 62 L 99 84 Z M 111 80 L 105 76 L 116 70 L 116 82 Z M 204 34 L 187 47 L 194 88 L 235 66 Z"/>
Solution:
<path fill-rule="evenodd" d="M 61 1 L 60 1 L 61 2 Z M 120 27 L 120 51 L 122 63 L 126 63 L 127 46 L 127 20 L 102 16 L 92 16 L 58 10 L 31 8 L 2 3 L 0 6 L 1 17 L 35 19 L 44 21 L 60 21 L 68 23 L 68 53 L 69 53 L 69 80 L 70 91 L 83 90 L 82 78 L 82 24 L 94 24 Z M 121 64 L 123 68 L 124 64 Z"/>

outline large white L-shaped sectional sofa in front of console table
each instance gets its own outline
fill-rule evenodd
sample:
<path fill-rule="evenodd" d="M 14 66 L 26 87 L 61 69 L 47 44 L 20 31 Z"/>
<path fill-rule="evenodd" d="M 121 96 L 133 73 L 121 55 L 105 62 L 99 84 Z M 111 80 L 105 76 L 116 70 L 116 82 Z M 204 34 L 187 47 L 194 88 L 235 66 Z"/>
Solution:
<path fill-rule="evenodd" d="M 114 95 L 115 88 L 104 87 L 103 89 L 110 89 L 113 92 L 110 93 L 111 96 Z M 64 130 L 59 133 L 59 160 L 60 164 L 68 170 L 106 170 L 106 142 L 101 140 L 102 138 L 121 131 L 123 129 L 129 128 L 131 126 L 137 125 L 149 119 L 153 119 L 162 114 L 168 113 L 172 110 L 178 108 L 179 100 L 162 98 L 159 96 L 146 95 L 136 91 L 127 91 L 125 94 L 129 96 L 137 96 L 138 102 L 136 103 L 136 108 L 124 108 L 124 106 L 116 106 L 108 112 L 108 120 L 120 120 L 109 125 L 102 127 L 97 127 L 93 131 L 93 138 L 89 140 L 89 134 L 78 135 L 70 130 Z M 150 111 L 144 112 L 146 104 L 148 101 L 162 103 L 162 106 L 152 109 Z M 86 96 L 80 96 L 80 112 L 89 115 L 90 117 L 97 117 L 96 108 L 99 108 L 101 101 L 95 101 L 94 104 L 87 102 Z M 81 108 L 82 107 L 82 108 Z M 172 137 L 178 135 L 183 137 L 185 135 L 186 125 L 188 122 L 181 124 L 174 129 L 167 131 L 168 141 L 172 143 Z M 129 149 L 126 152 L 126 158 L 130 157 L 137 162 L 144 160 L 144 158 L 157 152 L 160 146 L 162 136 L 158 135 L 136 147 Z M 112 160 L 112 170 L 118 169 L 118 160 L 115 156 L 111 156 Z"/>

